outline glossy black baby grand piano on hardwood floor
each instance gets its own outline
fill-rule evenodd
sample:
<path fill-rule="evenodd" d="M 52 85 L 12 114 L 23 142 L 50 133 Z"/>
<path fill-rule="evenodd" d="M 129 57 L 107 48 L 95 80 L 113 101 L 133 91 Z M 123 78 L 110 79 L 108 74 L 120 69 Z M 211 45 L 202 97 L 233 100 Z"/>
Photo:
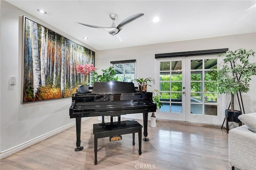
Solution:
<path fill-rule="evenodd" d="M 120 81 L 95 82 L 93 86 L 91 92 L 72 95 L 69 115 L 70 118 L 76 118 L 76 152 L 83 150 L 83 146 L 80 146 L 82 117 L 143 113 L 143 140 L 149 141 L 148 112 L 156 111 L 152 92 L 136 92 L 134 83 Z"/>

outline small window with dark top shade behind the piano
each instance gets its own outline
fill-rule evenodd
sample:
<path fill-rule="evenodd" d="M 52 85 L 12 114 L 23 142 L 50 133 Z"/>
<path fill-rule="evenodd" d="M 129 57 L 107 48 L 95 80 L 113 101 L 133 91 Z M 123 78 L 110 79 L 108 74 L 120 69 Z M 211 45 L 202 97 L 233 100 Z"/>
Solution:
<path fill-rule="evenodd" d="M 118 81 L 130 82 L 135 79 L 135 63 L 136 60 L 110 61 Z"/>

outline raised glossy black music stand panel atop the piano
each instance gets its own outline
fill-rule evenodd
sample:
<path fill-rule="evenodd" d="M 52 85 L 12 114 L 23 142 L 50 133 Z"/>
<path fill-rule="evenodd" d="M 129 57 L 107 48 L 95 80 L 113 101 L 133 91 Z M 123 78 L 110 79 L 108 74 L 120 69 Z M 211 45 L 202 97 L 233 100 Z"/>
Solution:
<path fill-rule="evenodd" d="M 95 82 L 92 94 L 136 93 L 134 83 L 121 81 Z"/>

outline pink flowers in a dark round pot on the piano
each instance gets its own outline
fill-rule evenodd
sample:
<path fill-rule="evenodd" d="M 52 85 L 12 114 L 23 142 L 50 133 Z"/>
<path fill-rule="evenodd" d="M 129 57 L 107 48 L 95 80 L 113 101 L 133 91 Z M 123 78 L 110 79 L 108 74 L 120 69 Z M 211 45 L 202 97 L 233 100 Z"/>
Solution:
<path fill-rule="evenodd" d="M 88 84 L 90 83 L 90 74 L 96 70 L 96 68 L 92 64 L 81 65 L 78 64 L 76 66 L 76 70 L 78 73 L 81 73 L 80 82 L 82 84 L 78 85 L 79 93 L 87 93 L 88 92 Z"/>

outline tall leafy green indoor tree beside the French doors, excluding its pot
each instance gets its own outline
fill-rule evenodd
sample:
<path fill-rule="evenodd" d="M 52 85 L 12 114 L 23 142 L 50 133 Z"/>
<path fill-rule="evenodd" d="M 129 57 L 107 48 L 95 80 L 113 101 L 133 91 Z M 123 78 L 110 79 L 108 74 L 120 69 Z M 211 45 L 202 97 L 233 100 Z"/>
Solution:
<path fill-rule="evenodd" d="M 223 67 L 208 72 L 212 80 L 217 81 L 218 93 L 231 94 L 230 111 L 232 112 L 234 112 L 234 95 L 239 91 L 248 92 L 250 77 L 256 75 L 256 63 L 249 63 L 249 57 L 254 57 L 254 54 L 252 49 L 246 51 L 240 48 L 235 51 L 227 51 L 219 55 L 219 57 L 225 57 Z"/>

